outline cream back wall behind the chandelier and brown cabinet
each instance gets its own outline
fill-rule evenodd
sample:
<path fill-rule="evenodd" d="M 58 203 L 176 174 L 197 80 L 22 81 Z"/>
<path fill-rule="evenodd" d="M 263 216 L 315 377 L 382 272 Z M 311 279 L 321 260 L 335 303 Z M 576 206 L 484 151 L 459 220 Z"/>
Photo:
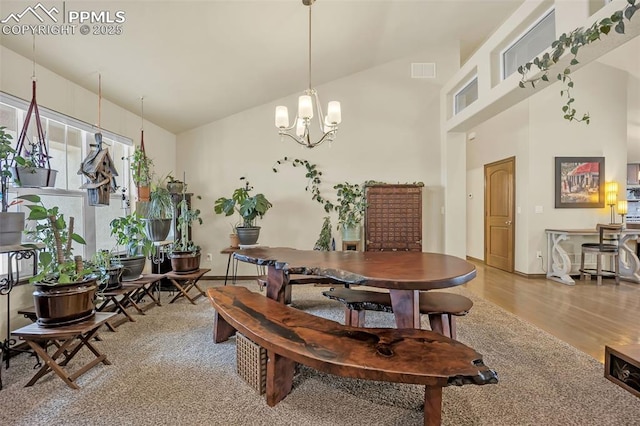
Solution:
<path fill-rule="evenodd" d="M 190 191 L 203 197 L 196 205 L 205 213 L 204 225 L 194 239 L 205 255 L 213 254 L 212 274 L 225 272 L 227 257 L 219 252 L 228 246 L 230 224 L 237 221 L 237 216 L 214 215 L 213 203 L 230 196 L 240 176 L 247 176 L 255 193 L 263 192 L 274 205 L 260 223 L 261 244 L 313 248 L 326 214 L 305 193 L 304 170 L 283 165 L 273 173 L 272 166 L 284 156 L 317 164 L 323 172 L 322 194 L 334 201 L 332 187 L 343 181 L 424 182 L 423 249 L 441 250 L 440 89 L 457 69 L 457 55 L 457 48 L 443 47 L 317 87 L 325 108 L 329 100 L 342 103 L 343 121 L 332 146 L 306 149 L 280 141 L 275 106 L 295 111 L 300 93 L 178 135 L 177 170 L 186 170 Z M 411 62 L 436 62 L 439 78 L 411 79 Z M 339 247 L 335 215 L 332 224 Z M 241 275 L 254 272 L 248 265 L 239 270 Z"/>

